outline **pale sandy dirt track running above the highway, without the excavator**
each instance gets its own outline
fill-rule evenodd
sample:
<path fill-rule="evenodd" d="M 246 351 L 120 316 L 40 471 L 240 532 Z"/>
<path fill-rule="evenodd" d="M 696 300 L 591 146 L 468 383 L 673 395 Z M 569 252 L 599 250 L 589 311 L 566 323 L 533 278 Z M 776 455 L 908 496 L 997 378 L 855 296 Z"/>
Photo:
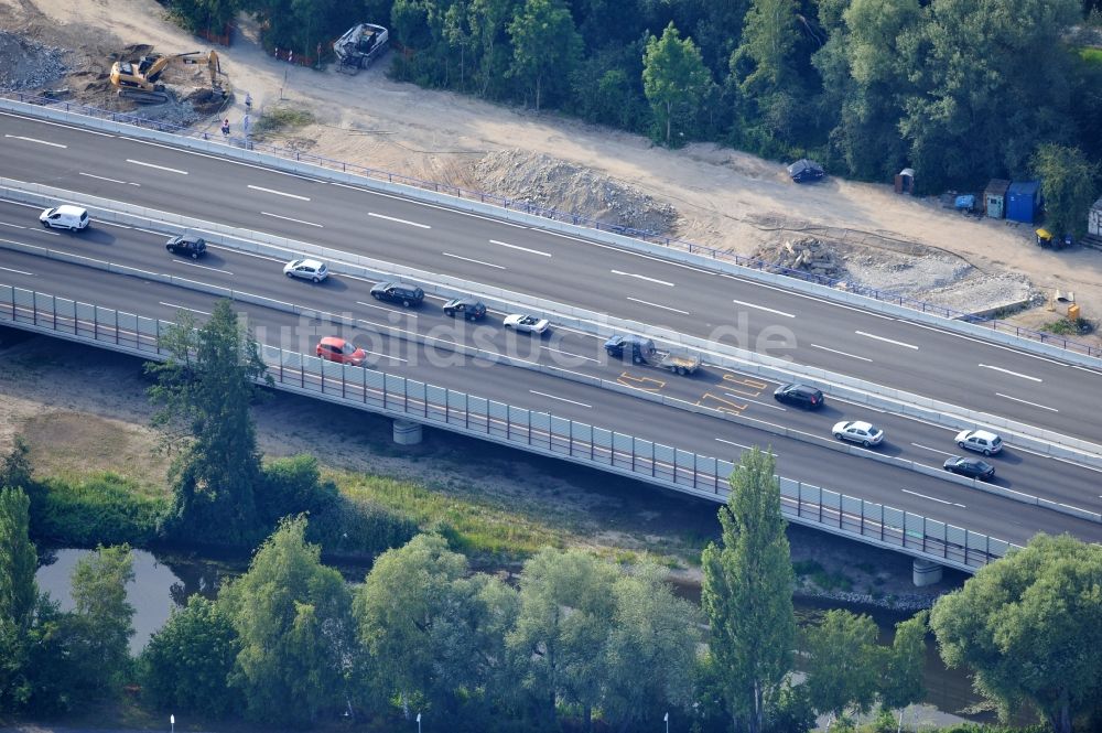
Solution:
<path fill-rule="evenodd" d="M 208 47 L 164 12 L 153 0 L 0 0 L 0 28 L 56 48 L 76 74 L 138 44 L 162 53 Z M 1059 288 L 1074 292 L 1084 317 L 1102 313 L 1102 252 L 1040 250 L 1029 225 L 962 217 L 888 185 L 828 177 L 797 186 L 781 164 L 714 144 L 670 151 L 634 134 L 398 84 L 385 76 L 386 58 L 352 77 L 332 66 L 291 66 L 263 53 L 247 18 L 234 45 L 218 51 L 236 90 L 226 110 L 235 129 L 246 93 L 253 115 L 277 105 L 313 114 L 314 123 L 277 137 L 280 144 L 623 224 L 668 219 L 672 235 L 741 255 L 777 251 L 809 229 L 832 227 L 845 234 L 828 245 L 861 284 L 972 312 L 1030 294 L 1039 303 Z M 217 120 L 197 125 L 215 130 Z M 518 155 L 529 159 L 527 170 Z M 639 205 L 615 211 L 617 198 Z M 1060 315 L 1039 305 L 1013 320 L 1036 327 Z"/>

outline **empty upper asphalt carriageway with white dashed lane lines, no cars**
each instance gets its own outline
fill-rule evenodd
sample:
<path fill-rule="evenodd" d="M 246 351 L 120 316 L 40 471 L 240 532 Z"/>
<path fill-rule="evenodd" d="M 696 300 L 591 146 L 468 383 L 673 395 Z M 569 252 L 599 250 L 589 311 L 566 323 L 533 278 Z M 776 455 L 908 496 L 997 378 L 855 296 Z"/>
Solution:
<path fill-rule="evenodd" d="M 1102 369 L 581 237 L 160 143 L 10 114 L 0 114 L 0 175 L 507 288 L 1102 443 Z M 1096 495 L 1096 483 L 1082 491 Z"/>

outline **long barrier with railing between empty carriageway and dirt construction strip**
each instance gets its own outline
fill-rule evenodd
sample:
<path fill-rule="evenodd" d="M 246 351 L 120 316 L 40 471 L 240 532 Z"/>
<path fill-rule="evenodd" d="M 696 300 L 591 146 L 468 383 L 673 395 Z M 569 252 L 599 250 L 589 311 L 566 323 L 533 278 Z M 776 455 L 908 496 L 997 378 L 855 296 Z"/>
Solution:
<path fill-rule="evenodd" d="M 112 122 L 131 125 L 138 128 L 155 130 L 159 132 L 168 132 L 171 134 L 176 134 L 185 138 L 202 139 L 207 142 L 218 142 L 219 141 L 218 139 L 222 138 L 222 136 L 214 136 L 207 132 L 198 132 L 188 128 L 183 128 L 160 120 L 154 120 L 148 117 L 143 117 L 140 114 L 129 115 L 123 112 L 116 112 L 106 109 L 100 109 L 98 107 L 90 107 L 88 105 L 77 105 L 74 103 L 51 99 L 37 95 L 23 94 L 20 91 L 0 95 L 0 98 L 12 99 L 23 104 L 30 104 L 43 107 L 54 107 L 63 109 L 66 112 L 84 115 L 97 119 L 106 119 Z M 344 161 L 334 160 L 332 158 L 325 158 L 324 155 L 315 155 L 313 153 L 303 152 L 300 150 L 293 150 L 290 148 L 281 148 L 279 145 L 256 142 L 245 137 L 229 136 L 226 137 L 224 141 L 227 145 L 235 148 L 247 148 L 250 151 L 258 152 L 261 154 L 268 154 L 284 160 L 293 160 L 295 162 L 306 163 L 310 165 L 317 165 L 318 168 L 328 169 L 333 171 L 341 171 L 342 173 L 359 175 L 367 179 L 386 181 L 387 183 L 411 186 L 423 191 L 431 191 L 435 194 L 454 196 L 456 198 L 462 198 L 467 201 L 477 201 L 482 204 L 498 206 L 507 211 L 520 212 L 522 214 L 528 214 L 530 216 L 538 216 L 540 218 L 545 218 L 554 222 L 562 222 L 565 224 L 572 224 L 574 226 L 582 226 L 595 229 L 597 231 L 606 231 L 609 234 L 631 237 L 635 239 L 647 241 L 652 245 L 666 247 L 668 249 L 677 249 L 692 255 L 709 257 L 714 260 L 721 260 L 754 270 L 765 270 L 768 272 L 779 273 L 797 280 L 802 280 L 804 282 L 811 282 L 828 288 L 839 288 L 840 285 L 844 285 L 844 290 L 846 292 L 854 293 L 857 295 L 863 295 L 865 298 L 871 298 L 884 303 L 890 303 L 893 305 L 910 309 L 912 311 L 918 311 L 920 313 L 933 314 L 943 319 L 951 319 L 955 321 L 962 321 L 965 323 L 975 324 L 979 326 L 983 326 L 985 328 L 990 328 L 991 331 L 996 333 L 1008 334 L 1016 336 L 1018 338 L 1026 338 L 1029 341 L 1036 341 L 1038 343 L 1046 344 L 1048 346 L 1055 346 L 1057 348 L 1062 348 L 1065 351 L 1072 352 L 1076 354 L 1084 354 L 1087 356 L 1092 356 L 1092 357 L 1102 357 L 1102 346 L 1093 346 L 1091 344 L 1084 344 L 1052 333 L 1034 331 L 1031 328 L 1023 328 L 1022 326 L 1014 325 L 1013 323 L 1006 323 L 1005 321 L 998 321 L 997 319 L 983 317 L 973 315 L 971 313 L 955 311 L 953 309 L 946 308 L 943 305 L 938 305 L 936 303 L 928 303 L 926 301 L 921 301 L 915 298 L 907 298 L 905 295 L 897 295 L 890 292 L 878 290 L 876 288 L 854 285 L 849 281 L 843 281 L 833 278 L 825 278 L 810 272 L 803 272 L 801 270 L 792 270 L 789 268 L 778 267 L 760 259 L 743 257 L 741 255 L 736 255 L 734 252 L 730 252 L 722 249 L 716 249 L 714 247 L 706 247 L 704 245 L 698 245 L 684 239 L 668 237 L 657 231 L 607 224 L 604 222 L 599 222 L 597 219 L 592 219 L 585 216 L 581 216 L 579 214 L 572 214 L 570 212 L 560 212 L 553 208 L 536 206 L 533 204 L 529 204 L 525 201 L 517 198 L 498 196 L 496 194 L 488 194 L 479 191 L 471 191 L 467 188 L 462 188 L 460 186 L 453 186 L 445 183 L 437 183 L 434 181 L 424 181 L 421 179 L 414 179 L 408 175 L 403 175 L 401 173 L 392 173 L 390 171 L 382 171 L 379 169 L 368 168 L 365 165 L 358 165 L 356 163 L 347 163 Z"/>

